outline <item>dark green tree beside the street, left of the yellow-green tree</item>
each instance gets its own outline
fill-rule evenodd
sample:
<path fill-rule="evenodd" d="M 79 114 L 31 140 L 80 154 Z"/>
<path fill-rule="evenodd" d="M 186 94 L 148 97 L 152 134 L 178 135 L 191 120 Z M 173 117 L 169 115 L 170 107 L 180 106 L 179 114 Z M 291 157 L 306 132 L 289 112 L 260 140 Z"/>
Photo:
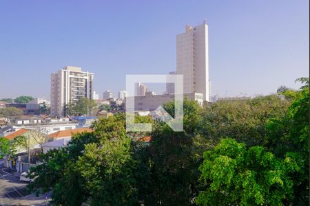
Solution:
<path fill-rule="evenodd" d="M 28 185 L 28 190 L 37 194 L 52 191 L 54 205 L 75 206 L 87 201 L 88 193 L 83 187 L 84 179 L 77 170 L 76 161 L 83 154 L 85 145 L 96 141 L 93 133 L 77 133 L 67 147 L 42 154 L 42 163 L 30 168 L 30 178 L 36 179 Z"/>

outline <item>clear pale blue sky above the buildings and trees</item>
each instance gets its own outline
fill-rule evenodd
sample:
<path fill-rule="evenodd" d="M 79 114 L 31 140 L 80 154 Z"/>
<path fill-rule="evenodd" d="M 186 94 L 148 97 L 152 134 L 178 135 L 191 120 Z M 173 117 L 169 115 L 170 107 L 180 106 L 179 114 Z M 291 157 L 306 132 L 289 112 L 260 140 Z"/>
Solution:
<path fill-rule="evenodd" d="M 212 93 L 269 94 L 309 76 L 309 0 L 0 1 L 0 98 L 50 98 L 50 73 L 95 73 L 97 93 L 125 74 L 176 69 L 176 34 L 209 24 Z"/>

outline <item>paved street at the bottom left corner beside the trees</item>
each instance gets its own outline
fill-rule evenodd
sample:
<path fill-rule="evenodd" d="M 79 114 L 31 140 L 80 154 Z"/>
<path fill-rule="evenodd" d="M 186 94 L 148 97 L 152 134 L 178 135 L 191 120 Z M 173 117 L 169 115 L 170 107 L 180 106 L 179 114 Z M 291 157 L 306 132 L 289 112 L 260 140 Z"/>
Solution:
<path fill-rule="evenodd" d="M 0 168 L 0 205 L 47 205 L 44 194 L 38 197 L 27 194 L 27 185 L 19 181 L 8 168 Z"/>

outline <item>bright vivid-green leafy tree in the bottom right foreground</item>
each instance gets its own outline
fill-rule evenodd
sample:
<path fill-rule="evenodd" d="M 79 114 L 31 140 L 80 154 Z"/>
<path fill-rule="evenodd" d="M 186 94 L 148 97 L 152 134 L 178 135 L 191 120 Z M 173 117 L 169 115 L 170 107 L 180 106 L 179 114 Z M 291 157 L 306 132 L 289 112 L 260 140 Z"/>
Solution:
<path fill-rule="evenodd" d="M 249 149 L 223 139 L 204 153 L 200 180 L 205 186 L 198 205 L 283 205 L 293 195 L 291 172 L 300 170 L 287 156 L 278 159 L 261 146 Z"/>

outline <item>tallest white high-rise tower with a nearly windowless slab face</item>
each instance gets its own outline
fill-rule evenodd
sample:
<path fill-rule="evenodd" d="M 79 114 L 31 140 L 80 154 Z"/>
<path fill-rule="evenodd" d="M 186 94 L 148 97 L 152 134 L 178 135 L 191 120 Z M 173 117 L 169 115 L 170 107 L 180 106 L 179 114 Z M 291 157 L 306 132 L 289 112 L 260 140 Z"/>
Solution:
<path fill-rule="evenodd" d="M 187 25 L 176 36 L 176 73 L 183 74 L 184 93 L 203 93 L 210 102 L 208 25 Z"/>

